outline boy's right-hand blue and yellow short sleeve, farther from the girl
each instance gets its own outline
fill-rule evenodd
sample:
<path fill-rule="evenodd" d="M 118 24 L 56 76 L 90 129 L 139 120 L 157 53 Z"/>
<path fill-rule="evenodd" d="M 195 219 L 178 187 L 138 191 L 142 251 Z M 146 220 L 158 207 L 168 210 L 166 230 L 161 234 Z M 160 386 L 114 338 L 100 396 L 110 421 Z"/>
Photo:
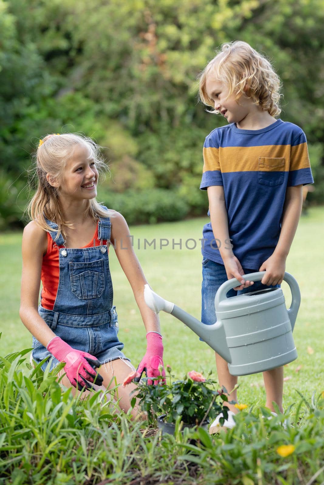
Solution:
<path fill-rule="evenodd" d="M 308 183 L 314 183 L 314 179 L 310 168 L 306 135 L 301 129 L 290 146 L 288 187 Z"/>

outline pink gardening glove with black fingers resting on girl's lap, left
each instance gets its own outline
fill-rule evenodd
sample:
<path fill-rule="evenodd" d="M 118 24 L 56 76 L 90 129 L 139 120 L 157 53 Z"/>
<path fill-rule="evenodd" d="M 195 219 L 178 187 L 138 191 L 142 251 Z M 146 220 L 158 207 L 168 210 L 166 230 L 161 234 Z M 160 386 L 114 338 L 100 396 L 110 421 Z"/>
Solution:
<path fill-rule="evenodd" d="M 98 386 L 102 385 L 102 376 L 94 370 L 95 367 L 101 365 L 96 357 L 87 352 L 73 349 L 60 337 L 51 339 L 46 348 L 57 360 L 66 362 L 64 371 L 67 373 L 68 380 L 79 391 L 84 387 L 94 389 L 87 381 L 95 382 Z"/>

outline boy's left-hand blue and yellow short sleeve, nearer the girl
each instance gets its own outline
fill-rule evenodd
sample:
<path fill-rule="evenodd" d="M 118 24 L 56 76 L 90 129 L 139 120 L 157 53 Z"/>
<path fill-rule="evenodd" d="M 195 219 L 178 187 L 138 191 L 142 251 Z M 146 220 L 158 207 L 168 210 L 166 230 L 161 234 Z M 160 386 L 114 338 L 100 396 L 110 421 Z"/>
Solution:
<path fill-rule="evenodd" d="M 223 185 L 219 150 L 220 147 L 217 141 L 216 130 L 214 130 L 206 137 L 204 143 L 204 168 L 203 177 L 200 184 L 201 190 L 206 190 L 207 187 L 212 185 Z"/>

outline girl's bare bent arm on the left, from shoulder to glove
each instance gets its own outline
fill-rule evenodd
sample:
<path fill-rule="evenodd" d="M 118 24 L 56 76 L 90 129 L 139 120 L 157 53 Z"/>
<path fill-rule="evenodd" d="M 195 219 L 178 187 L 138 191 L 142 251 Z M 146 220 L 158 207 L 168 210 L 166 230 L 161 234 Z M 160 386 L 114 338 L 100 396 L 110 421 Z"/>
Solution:
<path fill-rule="evenodd" d="M 25 327 L 28 328 L 44 347 L 55 337 L 55 334 L 37 311 L 45 244 L 47 244 L 46 233 L 34 222 L 30 222 L 25 227 L 22 236 L 22 275 L 19 316 Z"/>

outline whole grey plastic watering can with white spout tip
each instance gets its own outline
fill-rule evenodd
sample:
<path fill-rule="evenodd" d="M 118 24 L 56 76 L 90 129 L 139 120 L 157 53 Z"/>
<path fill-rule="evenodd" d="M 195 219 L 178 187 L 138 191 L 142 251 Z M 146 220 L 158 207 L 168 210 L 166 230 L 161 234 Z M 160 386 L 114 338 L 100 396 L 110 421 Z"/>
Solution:
<path fill-rule="evenodd" d="M 245 280 L 260 281 L 265 271 L 244 275 Z M 144 298 L 154 313 L 171 313 L 222 356 L 232 375 L 254 374 L 288 364 L 297 358 L 292 330 L 300 305 L 298 283 L 289 273 L 284 281 L 290 286 L 291 306 L 286 308 L 281 288 L 243 293 L 230 298 L 226 294 L 240 285 L 236 279 L 225 281 L 215 296 L 217 321 L 205 325 L 169 301 L 144 287 Z"/>

